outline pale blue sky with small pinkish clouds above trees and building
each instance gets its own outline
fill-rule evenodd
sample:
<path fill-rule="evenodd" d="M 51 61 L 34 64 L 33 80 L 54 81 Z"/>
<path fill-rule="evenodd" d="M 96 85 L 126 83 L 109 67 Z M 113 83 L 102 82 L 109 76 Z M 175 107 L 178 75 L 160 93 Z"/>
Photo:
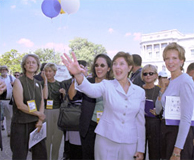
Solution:
<path fill-rule="evenodd" d="M 69 41 L 86 38 L 118 51 L 140 53 L 141 35 L 178 29 L 194 33 L 194 0 L 80 0 L 73 14 L 50 19 L 43 0 L 0 0 L 0 54 L 39 48 L 67 52 Z"/>

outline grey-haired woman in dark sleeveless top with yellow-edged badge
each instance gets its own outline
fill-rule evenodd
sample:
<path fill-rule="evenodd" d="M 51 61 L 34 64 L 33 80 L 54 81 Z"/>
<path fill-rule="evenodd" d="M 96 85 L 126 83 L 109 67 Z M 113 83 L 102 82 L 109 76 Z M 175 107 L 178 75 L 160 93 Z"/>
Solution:
<path fill-rule="evenodd" d="M 30 133 L 36 128 L 39 132 L 45 119 L 42 86 L 34 79 L 40 67 L 38 56 L 25 55 L 21 67 L 24 75 L 16 79 L 13 85 L 14 102 L 10 137 L 13 160 L 27 158 Z M 33 160 L 46 160 L 45 139 L 34 145 L 31 151 Z"/>

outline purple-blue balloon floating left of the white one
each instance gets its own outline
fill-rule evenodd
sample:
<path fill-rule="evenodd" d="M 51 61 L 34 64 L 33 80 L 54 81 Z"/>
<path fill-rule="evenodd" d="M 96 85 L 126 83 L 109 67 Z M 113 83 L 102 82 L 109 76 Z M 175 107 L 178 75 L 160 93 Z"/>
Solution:
<path fill-rule="evenodd" d="M 45 16 L 53 18 L 58 16 L 61 11 L 61 4 L 58 0 L 44 0 L 41 5 L 42 12 Z"/>

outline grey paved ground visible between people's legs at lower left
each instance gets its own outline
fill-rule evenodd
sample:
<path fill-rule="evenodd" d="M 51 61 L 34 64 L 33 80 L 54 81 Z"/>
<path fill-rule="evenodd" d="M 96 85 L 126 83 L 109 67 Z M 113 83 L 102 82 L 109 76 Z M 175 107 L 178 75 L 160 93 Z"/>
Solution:
<path fill-rule="evenodd" d="M 1 128 L 0 128 L 1 129 Z M 7 137 L 6 130 L 1 131 L 2 139 L 3 139 L 3 151 L 0 150 L 0 160 L 11 160 L 11 150 L 10 150 L 10 138 Z M 60 153 L 59 153 L 59 160 L 61 160 L 63 155 L 63 147 L 64 147 L 64 139 L 62 139 Z M 28 160 L 31 160 L 31 153 L 28 154 Z"/>

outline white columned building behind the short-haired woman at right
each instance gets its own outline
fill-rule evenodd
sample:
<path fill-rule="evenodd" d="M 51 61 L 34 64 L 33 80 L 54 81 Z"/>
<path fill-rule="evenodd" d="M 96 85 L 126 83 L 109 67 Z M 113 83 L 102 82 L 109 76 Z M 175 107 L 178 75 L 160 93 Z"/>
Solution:
<path fill-rule="evenodd" d="M 182 34 L 176 29 L 142 35 L 140 43 L 142 66 L 153 64 L 158 67 L 158 71 L 166 70 L 162 54 L 164 48 L 171 42 L 177 42 L 185 48 L 186 71 L 187 66 L 194 62 L 194 34 Z"/>

